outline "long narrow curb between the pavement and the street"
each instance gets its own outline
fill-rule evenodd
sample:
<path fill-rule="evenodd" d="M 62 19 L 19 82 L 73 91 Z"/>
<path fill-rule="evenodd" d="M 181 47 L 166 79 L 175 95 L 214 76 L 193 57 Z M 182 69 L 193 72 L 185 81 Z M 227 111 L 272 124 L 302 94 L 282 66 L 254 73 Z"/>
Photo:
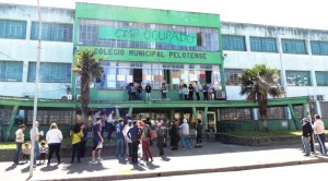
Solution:
<path fill-rule="evenodd" d="M 274 168 L 274 167 L 286 167 L 308 164 L 328 162 L 327 157 L 316 157 L 311 160 L 294 160 L 285 162 L 272 162 L 272 164 L 259 164 L 248 166 L 234 166 L 234 167 L 221 167 L 221 168 L 206 168 L 206 169 L 192 169 L 192 170 L 173 170 L 173 171 L 155 171 L 155 172 L 140 172 L 131 174 L 114 174 L 114 176 L 101 176 L 101 177 L 83 177 L 83 178 L 66 178 L 66 179 L 54 179 L 60 181 L 108 181 L 108 180 L 126 180 L 126 179 L 145 179 L 145 178 L 157 178 L 157 177 L 171 177 L 171 176 L 184 176 L 184 174 L 197 174 L 197 173 L 211 173 L 211 172 L 226 172 L 226 171 L 242 171 L 261 168 Z"/>

